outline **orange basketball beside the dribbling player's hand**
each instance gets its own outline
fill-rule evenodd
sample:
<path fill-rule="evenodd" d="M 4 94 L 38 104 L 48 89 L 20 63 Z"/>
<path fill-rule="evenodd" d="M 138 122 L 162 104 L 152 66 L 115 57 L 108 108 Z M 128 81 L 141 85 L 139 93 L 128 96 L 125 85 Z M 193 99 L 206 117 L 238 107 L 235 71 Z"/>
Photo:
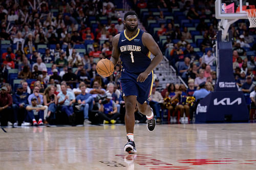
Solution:
<path fill-rule="evenodd" d="M 108 59 L 102 59 L 97 63 L 96 70 L 100 76 L 109 77 L 114 72 L 114 64 Z"/>

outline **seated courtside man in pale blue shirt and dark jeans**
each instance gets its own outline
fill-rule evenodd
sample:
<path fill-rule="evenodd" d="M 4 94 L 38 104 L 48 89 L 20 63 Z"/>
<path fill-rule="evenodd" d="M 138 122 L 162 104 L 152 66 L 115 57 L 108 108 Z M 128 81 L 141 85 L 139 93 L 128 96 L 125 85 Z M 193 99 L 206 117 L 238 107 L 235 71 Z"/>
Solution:
<path fill-rule="evenodd" d="M 60 110 L 68 115 L 69 123 L 73 125 L 75 120 L 75 114 L 73 110 L 73 104 L 76 101 L 75 95 L 73 92 L 67 90 L 66 84 L 61 84 L 60 88 L 61 92 L 57 95 Z"/>

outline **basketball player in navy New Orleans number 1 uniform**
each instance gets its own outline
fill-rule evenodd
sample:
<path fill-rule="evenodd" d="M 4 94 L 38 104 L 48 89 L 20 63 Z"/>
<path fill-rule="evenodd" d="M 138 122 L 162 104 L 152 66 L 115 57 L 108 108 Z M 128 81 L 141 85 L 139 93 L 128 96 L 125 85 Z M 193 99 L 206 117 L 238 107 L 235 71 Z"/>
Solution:
<path fill-rule="evenodd" d="M 148 105 L 153 86 L 153 69 L 163 56 L 153 37 L 138 29 L 138 16 L 130 11 L 124 15 L 125 30 L 113 38 L 111 61 L 122 61 L 121 90 L 125 102 L 125 127 L 127 143 L 124 151 L 136 153 L 134 143 L 134 110 L 136 103 L 139 111 L 147 117 L 147 129 L 153 131 L 156 126 L 153 110 Z M 151 61 L 151 53 L 155 58 Z"/>

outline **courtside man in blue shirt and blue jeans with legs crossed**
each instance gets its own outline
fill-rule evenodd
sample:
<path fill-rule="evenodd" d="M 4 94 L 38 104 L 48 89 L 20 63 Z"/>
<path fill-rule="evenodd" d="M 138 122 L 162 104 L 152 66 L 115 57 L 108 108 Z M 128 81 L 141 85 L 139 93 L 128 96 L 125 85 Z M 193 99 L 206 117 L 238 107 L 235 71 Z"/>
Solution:
<path fill-rule="evenodd" d="M 83 124 L 91 124 L 91 121 L 89 120 L 89 110 L 93 109 L 93 96 L 92 94 L 89 94 L 86 92 L 86 85 L 81 84 L 80 85 L 81 94 L 78 94 L 76 96 L 76 100 L 78 105 L 76 108 L 78 110 L 83 111 L 83 118 L 84 122 Z"/>

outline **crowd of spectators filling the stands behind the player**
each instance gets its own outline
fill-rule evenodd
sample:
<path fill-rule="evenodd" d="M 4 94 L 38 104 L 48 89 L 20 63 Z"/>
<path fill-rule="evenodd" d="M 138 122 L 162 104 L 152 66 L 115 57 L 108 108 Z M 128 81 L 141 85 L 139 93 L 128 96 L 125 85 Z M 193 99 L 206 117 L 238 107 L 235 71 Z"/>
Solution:
<path fill-rule="evenodd" d="M 150 105 L 157 122 L 166 110 L 171 123 L 188 123 L 193 104 L 216 82 L 214 1 L 128 3 L 188 84 L 187 89 L 171 82 L 162 87 L 161 78 L 155 79 Z M 109 0 L 1 2 L 1 126 L 8 121 L 19 126 L 24 121 L 34 126 L 123 123 L 120 62 L 108 78 L 96 71 L 100 59 L 111 57 L 112 39 L 124 29 L 116 7 Z M 246 20 L 230 30 L 234 77 L 250 105 L 255 102 L 250 92 L 256 80 L 256 30 L 248 29 Z M 145 122 L 137 109 L 135 115 L 137 123 Z"/>

